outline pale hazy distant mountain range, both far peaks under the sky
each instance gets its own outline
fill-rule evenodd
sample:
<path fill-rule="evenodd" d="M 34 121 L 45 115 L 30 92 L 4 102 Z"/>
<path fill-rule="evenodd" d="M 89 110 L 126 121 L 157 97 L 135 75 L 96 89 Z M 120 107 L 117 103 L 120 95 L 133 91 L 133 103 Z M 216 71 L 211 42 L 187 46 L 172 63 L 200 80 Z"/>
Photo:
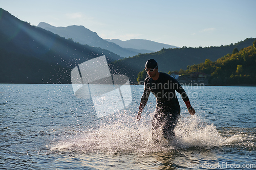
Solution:
<path fill-rule="evenodd" d="M 52 33 L 58 34 L 59 36 L 65 37 L 66 39 L 71 38 L 73 41 L 81 44 L 87 44 L 94 47 L 101 47 L 121 57 L 133 57 L 135 55 L 138 55 L 139 53 L 152 53 L 161 50 L 161 48 L 163 47 L 176 47 L 150 40 L 140 39 L 131 40 L 133 43 L 131 47 L 131 41 L 118 41 L 116 39 L 104 40 L 101 37 L 99 37 L 97 33 L 92 32 L 91 30 L 83 26 L 54 27 L 51 26 L 49 23 L 40 22 L 37 27 L 51 31 Z M 124 43 L 127 45 L 125 45 Z"/>

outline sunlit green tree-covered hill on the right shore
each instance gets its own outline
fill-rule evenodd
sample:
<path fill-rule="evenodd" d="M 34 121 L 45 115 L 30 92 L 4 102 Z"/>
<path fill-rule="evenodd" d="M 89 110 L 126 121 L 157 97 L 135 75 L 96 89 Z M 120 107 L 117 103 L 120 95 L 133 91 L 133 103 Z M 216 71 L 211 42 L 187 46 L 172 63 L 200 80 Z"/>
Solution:
<path fill-rule="evenodd" d="M 256 40 L 253 46 L 234 48 L 232 54 L 227 54 L 215 62 L 206 59 L 204 63 L 188 66 L 186 74 L 204 72 L 210 75 L 212 85 L 256 84 Z M 182 71 L 184 74 L 184 70 Z M 179 71 L 179 74 L 182 75 Z"/>

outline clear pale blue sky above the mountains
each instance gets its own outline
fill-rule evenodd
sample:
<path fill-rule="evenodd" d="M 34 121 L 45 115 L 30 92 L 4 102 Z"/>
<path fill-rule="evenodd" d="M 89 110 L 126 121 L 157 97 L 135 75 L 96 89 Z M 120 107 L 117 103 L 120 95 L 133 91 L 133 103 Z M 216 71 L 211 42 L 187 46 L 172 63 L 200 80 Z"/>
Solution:
<path fill-rule="evenodd" d="M 256 38 L 255 0 L 0 0 L 0 7 L 34 26 L 84 26 L 103 39 L 205 47 Z"/>

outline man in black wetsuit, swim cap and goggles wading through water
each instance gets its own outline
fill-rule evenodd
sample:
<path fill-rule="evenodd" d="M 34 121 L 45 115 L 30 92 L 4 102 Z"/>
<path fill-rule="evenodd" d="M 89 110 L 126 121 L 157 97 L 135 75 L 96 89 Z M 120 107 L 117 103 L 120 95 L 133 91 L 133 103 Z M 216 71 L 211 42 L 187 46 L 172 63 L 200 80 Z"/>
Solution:
<path fill-rule="evenodd" d="M 150 92 L 152 92 L 157 103 L 152 120 L 153 140 L 158 142 L 161 138 L 159 135 L 172 140 L 175 136 L 174 128 L 180 115 L 180 105 L 175 91 L 181 94 L 191 115 L 194 115 L 196 111 L 191 107 L 188 96 L 179 82 L 172 76 L 158 71 L 156 60 L 147 60 L 145 70 L 148 77 L 144 81 L 144 92 L 141 97 L 137 120 L 141 118 L 141 112 L 146 106 Z"/>

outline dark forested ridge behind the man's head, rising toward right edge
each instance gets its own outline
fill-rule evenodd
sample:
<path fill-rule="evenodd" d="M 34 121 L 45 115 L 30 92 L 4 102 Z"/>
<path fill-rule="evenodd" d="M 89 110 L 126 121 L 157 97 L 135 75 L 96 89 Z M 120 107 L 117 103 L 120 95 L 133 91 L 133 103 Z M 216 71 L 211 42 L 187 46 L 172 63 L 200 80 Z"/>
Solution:
<path fill-rule="evenodd" d="M 131 83 L 137 83 L 138 73 L 145 67 L 148 59 L 155 59 L 158 62 L 158 70 L 169 72 L 180 69 L 186 69 L 188 65 L 194 65 L 204 62 L 206 59 L 216 61 L 217 59 L 232 53 L 234 48 L 251 46 L 256 38 L 247 38 L 244 41 L 230 45 L 211 46 L 211 47 L 182 47 L 182 48 L 162 48 L 161 51 L 151 54 L 139 54 L 131 58 L 114 61 L 111 66 L 116 68 L 120 74 L 130 78 Z"/>

